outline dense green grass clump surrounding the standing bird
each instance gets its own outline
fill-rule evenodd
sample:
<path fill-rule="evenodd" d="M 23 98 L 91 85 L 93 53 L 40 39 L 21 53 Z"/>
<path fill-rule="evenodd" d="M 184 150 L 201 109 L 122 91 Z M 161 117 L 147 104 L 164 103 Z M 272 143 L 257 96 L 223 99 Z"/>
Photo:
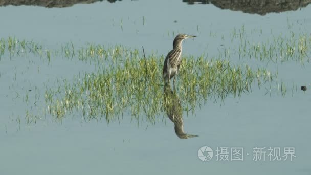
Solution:
<path fill-rule="evenodd" d="M 85 120 L 104 118 L 108 123 L 120 120 L 124 113 L 138 122 L 159 120 L 157 116 L 163 114 L 164 57 L 149 56 L 145 61 L 137 50 L 117 48 L 105 52 L 114 60 L 108 66 L 76 77 L 72 83 L 65 82 L 59 92 L 46 92 L 49 112 L 59 120 L 75 112 Z M 252 70 L 248 65 L 220 59 L 189 57 L 183 58 L 176 92 L 184 108 L 194 111 L 209 99 L 224 102 L 229 95 L 249 93 L 254 80 L 260 85 L 272 79 L 273 75 L 262 68 Z"/>

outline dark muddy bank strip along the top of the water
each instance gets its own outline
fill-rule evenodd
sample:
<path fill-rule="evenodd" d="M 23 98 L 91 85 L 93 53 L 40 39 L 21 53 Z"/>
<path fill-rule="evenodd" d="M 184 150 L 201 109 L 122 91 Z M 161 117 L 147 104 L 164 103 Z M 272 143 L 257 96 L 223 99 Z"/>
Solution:
<path fill-rule="evenodd" d="M 91 4 L 103 0 L 0 0 L 0 6 L 33 5 L 47 8 L 70 7 L 75 4 Z M 121 0 L 107 0 L 110 3 Z M 230 9 L 245 13 L 265 15 L 267 13 L 280 13 L 298 10 L 306 7 L 311 0 L 183 0 L 187 4 L 201 3 L 213 4 L 220 9 Z"/>

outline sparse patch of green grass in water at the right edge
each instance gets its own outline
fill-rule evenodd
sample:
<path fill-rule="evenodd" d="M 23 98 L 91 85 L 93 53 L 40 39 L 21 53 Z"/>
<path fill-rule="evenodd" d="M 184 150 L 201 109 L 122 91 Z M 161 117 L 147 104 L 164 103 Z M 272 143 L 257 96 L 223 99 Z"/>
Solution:
<path fill-rule="evenodd" d="M 291 33 L 291 37 L 280 34 L 264 43 L 250 43 L 250 41 L 240 38 L 238 54 L 239 58 L 254 58 L 275 63 L 296 61 L 304 64 L 304 62 L 310 61 L 310 47 L 311 37 L 306 34 L 296 36 L 295 33 Z"/>

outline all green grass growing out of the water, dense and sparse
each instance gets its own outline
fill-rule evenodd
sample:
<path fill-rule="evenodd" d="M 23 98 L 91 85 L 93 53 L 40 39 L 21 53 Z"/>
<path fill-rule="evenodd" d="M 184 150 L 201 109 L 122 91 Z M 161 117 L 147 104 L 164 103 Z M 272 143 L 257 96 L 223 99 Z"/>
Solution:
<path fill-rule="evenodd" d="M 309 62 L 311 55 L 311 36 L 306 34 L 292 33 L 289 37 L 280 34 L 265 42 L 253 42 L 242 27 L 234 29 L 230 39 L 239 45 L 225 48 L 217 56 L 183 58 L 176 94 L 187 113 L 193 113 L 197 106 L 208 101 L 223 104 L 228 96 L 249 94 L 263 84 L 268 84 L 266 93 L 276 89 L 284 96 L 286 85 L 279 82 L 277 71 L 270 71 L 260 64 L 249 65 L 246 61 L 304 64 Z M 9 37 L 0 39 L 0 62 L 4 56 L 10 59 L 39 57 L 47 64 L 60 57 L 96 65 L 94 71 L 80 72 L 73 79 L 46 86 L 45 105 L 41 107 L 45 108 L 44 115 L 48 112 L 57 120 L 74 114 L 82 116 L 85 121 L 105 119 L 109 123 L 121 120 L 123 115 L 131 115 L 137 122 L 155 123 L 166 111 L 163 104 L 163 55 L 149 55 L 144 59 L 137 49 L 93 44 L 75 49 L 72 42 L 51 50 L 34 41 Z M 232 57 L 239 61 L 231 61 Z M 27 104 L 30 101 L 28 94 L 25 101 Z M 29 118 L 35 115 L 29 111 L 26 113 L 27 121 L 33 121 Z"/>

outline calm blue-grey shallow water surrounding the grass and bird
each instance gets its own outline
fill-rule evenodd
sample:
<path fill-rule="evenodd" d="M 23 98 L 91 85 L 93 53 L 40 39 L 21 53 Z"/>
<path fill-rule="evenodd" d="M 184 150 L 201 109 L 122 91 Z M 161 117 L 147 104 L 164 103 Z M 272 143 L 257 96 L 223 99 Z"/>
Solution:
<path fill-rule="evenodd" d="M 0 174 L 309 174 L 310 63 L 239 59 L 232 51 L 240 41 L 231 41 L 230 37 L 234 29 L 242 28 L 254 43 L 280 33 L 290 36 L 291 31 L 310 36 L 310 8 L 262 16 L 182 1 L 102 1 L 49 9 L 0 7 L 2 38 L 33 40 L 47 50 L 59 50 L 69 42 L 78 48 L 87 43 L 121 44 L 139 50 L 144 46 L 147 55 L 166 55 L 174 35 L 193 34 L 198 37 L 184 41 L 183 55 L 211 59 L 218 56 L 218 50 L 230 49 L 231 56 L 226 59 L 277 71 L 277 80 L 287 86 L 285 97 L 276 89 L 265 95 L 265 86 L 258 89 L 255 84 L 250 94 L 229 95 L 224 104 L 208 101 L 188 117 L 184 112 L 185 131 L 199 135 L 186 140 L 176 137 L 173 123 L 166 118 L 166 123 L 145 122 L 137 127 L 130 115 L 124 115 L 120 123 L 109 124 L 105 120 L 85 122 L 79 115 L 67 116 L 59 123 L 46 115 L 26 124 L 27 111 L 45 106 L 47 88 L 92 72 L 97 65 L 61 56 L 52 57 L 48 63 L 31 55 L 10 58 L 5 54 L 0 59 Z M 301 85 L 306 85 L 307 91 L 300 91 Z M 198 158 L 202 146 L 214 150 L 212 160 Z M 242 147 L 244 160 L 217 161 L 217 147 Z M 284 147 L 294 147 L 296 158 L 254 161 L 255 147 L 280 147 L 282 152 Z"/>

